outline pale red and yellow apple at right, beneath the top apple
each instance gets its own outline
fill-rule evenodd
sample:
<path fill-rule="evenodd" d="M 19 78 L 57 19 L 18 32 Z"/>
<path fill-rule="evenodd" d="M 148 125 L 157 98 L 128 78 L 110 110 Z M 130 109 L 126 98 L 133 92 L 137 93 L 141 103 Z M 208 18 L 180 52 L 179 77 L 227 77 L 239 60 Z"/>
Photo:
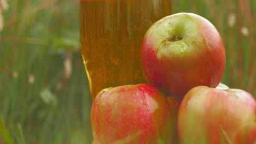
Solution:
<path fill-rule="evenodd" d="M 198 86 L 184 97 L 178 112 L 181 143 L 228 143 L 245 124 L 256 122 L 256 102 L 241 89 Z"/>

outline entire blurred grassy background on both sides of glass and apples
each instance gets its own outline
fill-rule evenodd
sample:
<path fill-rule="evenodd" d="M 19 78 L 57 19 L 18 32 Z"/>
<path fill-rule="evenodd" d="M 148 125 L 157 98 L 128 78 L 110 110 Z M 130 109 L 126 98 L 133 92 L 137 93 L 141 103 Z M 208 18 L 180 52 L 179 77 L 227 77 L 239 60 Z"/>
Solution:
<path fill-rule="evenodd" d="M 255 97 L 255 1 L 172 3 L 173 13 L 196 13 L 217 27 L 227 56 L 222 82 Z M 8 4 L 0 32 L 0 143 L 91 143 L 79 1 Z"/>

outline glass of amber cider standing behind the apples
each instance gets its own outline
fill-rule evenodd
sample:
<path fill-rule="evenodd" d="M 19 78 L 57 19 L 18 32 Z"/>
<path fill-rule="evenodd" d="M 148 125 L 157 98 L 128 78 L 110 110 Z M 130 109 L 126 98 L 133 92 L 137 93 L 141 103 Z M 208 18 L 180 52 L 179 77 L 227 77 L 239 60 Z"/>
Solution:
<path fill-rule="evenodd" d="M 80 42 L 91 98 L 104 88 L 147 82 L 141 45 L 171 14 L 171 0 L 80 0 Z"/>

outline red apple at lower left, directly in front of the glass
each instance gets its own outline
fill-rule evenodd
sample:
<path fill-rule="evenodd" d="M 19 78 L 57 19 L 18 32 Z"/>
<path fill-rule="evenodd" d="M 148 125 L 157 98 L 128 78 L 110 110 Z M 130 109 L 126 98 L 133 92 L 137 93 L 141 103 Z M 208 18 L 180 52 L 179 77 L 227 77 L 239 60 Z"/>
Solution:
<path fill-rule="evenodd" d="M 149 84 L 103 89 L 91 107 L 97 143 L 173 143 L 177 119 L 168 100 Z"/>

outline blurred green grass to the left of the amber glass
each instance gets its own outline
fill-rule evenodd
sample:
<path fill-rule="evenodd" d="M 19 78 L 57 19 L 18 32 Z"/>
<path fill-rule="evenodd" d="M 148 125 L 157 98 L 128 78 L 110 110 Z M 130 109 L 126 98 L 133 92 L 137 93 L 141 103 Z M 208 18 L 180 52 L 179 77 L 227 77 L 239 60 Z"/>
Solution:
<path fill-rule="evenodd" d="M 79 2 L 8 3 L 0 34 L 0 143 L 90 143 Z"/>

